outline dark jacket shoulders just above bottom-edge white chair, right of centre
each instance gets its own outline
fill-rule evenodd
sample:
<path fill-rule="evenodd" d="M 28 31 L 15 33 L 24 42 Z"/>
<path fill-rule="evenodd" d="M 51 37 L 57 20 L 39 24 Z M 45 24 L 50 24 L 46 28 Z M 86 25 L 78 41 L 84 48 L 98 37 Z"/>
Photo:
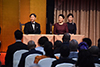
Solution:
<path fill-rule="evenodd" d="M 55 67 L 57 64 L 60 64 L 60 63 L 72 63 L 72 64 L 75 64 L 75 62 L 76 61 L 74 61 L 72 59 L 69 59 L 69 58 L 60 58 L 58 60 L 53 61 L 51 67 Z"/>

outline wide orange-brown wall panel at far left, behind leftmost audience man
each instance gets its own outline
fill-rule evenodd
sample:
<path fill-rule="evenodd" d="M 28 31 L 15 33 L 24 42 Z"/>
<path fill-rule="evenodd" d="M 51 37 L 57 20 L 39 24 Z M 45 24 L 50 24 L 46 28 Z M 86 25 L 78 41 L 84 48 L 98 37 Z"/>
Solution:
<path fill-rule="evenodd" d="M 14 32 L 19 29 L 19 0 L 3 0 L 2 15 L 1 51 L 5 52 L 15 42 Z"/>

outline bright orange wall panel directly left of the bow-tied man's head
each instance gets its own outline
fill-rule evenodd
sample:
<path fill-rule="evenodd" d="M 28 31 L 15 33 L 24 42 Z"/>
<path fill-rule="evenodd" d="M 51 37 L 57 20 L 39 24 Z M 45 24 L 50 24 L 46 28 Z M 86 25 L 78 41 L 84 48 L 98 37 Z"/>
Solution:
<path fill-rule="evenodd" d="M 30 21 L 30 0 L 20 0 L 19 1 L 19 21 L 22 24 Z"/>

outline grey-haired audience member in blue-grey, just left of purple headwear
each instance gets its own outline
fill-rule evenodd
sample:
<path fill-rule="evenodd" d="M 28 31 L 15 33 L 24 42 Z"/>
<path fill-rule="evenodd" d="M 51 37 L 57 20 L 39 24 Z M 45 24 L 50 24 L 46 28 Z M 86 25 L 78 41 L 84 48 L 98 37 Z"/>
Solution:
<path fill-rule="evenodd" d="M 70 54 L 69 54 L 69 58 L 78 58 L 78 42 L 75 39 L 72 39 L 69 42 L 69 48 L 70 48 Z"/>

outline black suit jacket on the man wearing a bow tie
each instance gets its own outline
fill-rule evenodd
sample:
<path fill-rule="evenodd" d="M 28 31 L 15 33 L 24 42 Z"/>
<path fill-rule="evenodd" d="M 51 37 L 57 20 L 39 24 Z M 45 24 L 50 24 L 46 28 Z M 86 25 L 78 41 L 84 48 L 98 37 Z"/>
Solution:
<path fill-rule="evenodd" d="M 24 27 L 24 33 L 25 34 L 40 34 L 41 33 L 40 24 L 35 22 L 35 30 L 33 30 L 32 23 L 31 22 L 26 23 Z"/>

